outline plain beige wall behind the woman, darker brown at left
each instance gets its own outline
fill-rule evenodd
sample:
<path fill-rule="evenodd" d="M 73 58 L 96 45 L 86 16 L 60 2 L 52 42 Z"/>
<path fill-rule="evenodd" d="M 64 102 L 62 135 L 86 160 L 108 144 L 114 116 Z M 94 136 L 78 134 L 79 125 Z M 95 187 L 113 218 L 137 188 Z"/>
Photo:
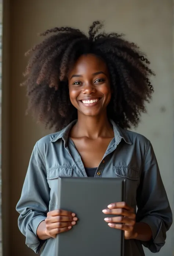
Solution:
<path fill-rule="evenodd" d="M 9 50 L 6 44 L 9 31 L 8 3 Z M 26 247 L 25 238 L 18 231 L 15 206 L 21 193 L 32 148 L 36 140 L 48 131 L 36 125 L 29 116 L 25 116 L 26 93 L 25 88 L 19 87 L 19 83 L 22 81 L 22 72 L 26 65 L 26 59 L 23 57 L 25 51 L 39 42 L 37 32 L 54 26 L 71 25 L 87 30 L 94 20 L 104 20 L 107 31 L 126 33 L 128 39 L 138 43 L 148 54 L 152 68 L 157 74 L 153 79 L 155 95 L 152 104 L 148 106 L 148 115 L 143 116 L 137 131 L 152 141 L 173 207 L 172 0 L 4 0 L 4 14 L 6 31 L 4 30 L 3 41 L 3 256 L 34 255 L 32 250 Z M 7 160 L 10 166 L 7 165 Z M 166 245 L 159 256 L 171 256 L 171 232 L 172 230 L 168 232 Z M 7 245 L 11 247 L 10 252 Z M 151 253 L 146 251 L 146 256 L 149 255 Z"/>

